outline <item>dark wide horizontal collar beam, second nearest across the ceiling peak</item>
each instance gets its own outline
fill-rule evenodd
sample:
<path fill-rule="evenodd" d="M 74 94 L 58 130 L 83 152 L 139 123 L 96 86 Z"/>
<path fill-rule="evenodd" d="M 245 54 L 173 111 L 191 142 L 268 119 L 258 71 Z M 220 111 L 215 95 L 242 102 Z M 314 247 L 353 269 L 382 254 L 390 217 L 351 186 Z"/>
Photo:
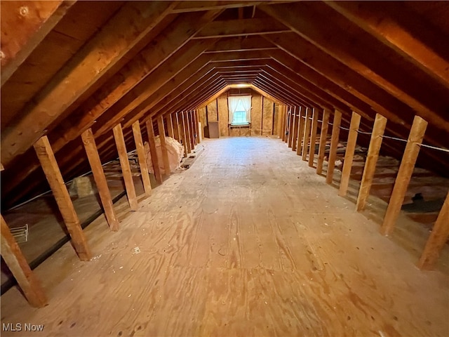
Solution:
<path fill-rule="evenodd" d="M 218 20 L 208 23 L 194 39 L 210 39 L 214 37 L 239 37 L 258 34 L 288 32 L 286 26 L 272 18 Z"/>

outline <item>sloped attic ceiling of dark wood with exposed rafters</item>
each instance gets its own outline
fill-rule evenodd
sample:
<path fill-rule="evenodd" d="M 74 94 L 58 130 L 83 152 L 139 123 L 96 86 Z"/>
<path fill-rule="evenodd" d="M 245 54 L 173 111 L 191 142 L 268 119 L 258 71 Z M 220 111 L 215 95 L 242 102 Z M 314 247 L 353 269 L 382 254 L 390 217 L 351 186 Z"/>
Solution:
<path fill-rule="evenodd" d="M 1 1 L 2 199 L 46 188 L 33 143 L 47 135 L 65 178 L 89 171 L 80 135 L 102 161 L 112 128 L 194 110 L 235 84 L 290 105 L 351 111 L 370 131 L 449 147 L 449 2 Z M 143 132 L 144 135 L 146 132 Z M 359 138 L 368 145 L 369 136 Z M 403 143 L 382 145 L 398 159 Z M 449 174 L 447 152 L 419 164 Z"/>

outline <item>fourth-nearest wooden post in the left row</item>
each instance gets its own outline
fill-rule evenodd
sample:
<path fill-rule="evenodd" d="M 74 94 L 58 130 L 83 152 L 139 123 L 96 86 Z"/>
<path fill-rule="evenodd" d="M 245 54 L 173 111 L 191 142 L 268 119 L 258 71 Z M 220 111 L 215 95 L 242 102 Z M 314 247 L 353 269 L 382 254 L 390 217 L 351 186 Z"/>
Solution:
<path fill-rule="evenodd" d="M 139 208 L 138 198 L 135 195 L 134 180 L 129 165 L 128 152 L 126 151 L 125 138 L 123 138 L 121 124 L 114 126 L 112 131 L 114 132 L 117 152 L 119 152 L 121 173 L 123 174 L 123 180 L 125 180 L 126 195 L 128 196 L 129 207 L 131 211 L 137 211 Z"/>

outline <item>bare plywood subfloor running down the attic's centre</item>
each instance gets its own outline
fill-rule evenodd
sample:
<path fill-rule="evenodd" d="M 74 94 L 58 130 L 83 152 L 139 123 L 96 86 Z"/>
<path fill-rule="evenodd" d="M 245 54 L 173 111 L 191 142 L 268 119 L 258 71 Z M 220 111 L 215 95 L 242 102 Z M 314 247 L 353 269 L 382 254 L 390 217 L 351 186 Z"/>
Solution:
<path fill-rule="evenodd" d="M 33 336 L 449 336 L 449 278 L 354 211 L 281 140 L 220 138 L 128 213 L 36 269 L 49 305 L 18 289 L 1 323 Z M 29 336 L 3 332 L 2 336 Z"/>

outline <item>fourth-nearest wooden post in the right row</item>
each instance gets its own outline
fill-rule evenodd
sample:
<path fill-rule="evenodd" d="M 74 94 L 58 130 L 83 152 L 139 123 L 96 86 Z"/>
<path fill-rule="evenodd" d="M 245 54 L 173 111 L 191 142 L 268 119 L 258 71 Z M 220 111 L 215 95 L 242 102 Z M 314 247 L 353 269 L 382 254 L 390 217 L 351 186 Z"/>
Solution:
<path fill-rule="evenodd" d="M 352 161 L 354 160 L 354 152 L 356 150 L 358 126 L 360 126 L 360 114 L 352 112 L 351 124 L 349 126 L 348 141 L 346 143 L 346 151 L 344 152 L 342 178 L 340 179 L 340 189 L 338 195 L 344 197 L 347 194 L 349 186 L 349 177 L 351 176 Z"/>

